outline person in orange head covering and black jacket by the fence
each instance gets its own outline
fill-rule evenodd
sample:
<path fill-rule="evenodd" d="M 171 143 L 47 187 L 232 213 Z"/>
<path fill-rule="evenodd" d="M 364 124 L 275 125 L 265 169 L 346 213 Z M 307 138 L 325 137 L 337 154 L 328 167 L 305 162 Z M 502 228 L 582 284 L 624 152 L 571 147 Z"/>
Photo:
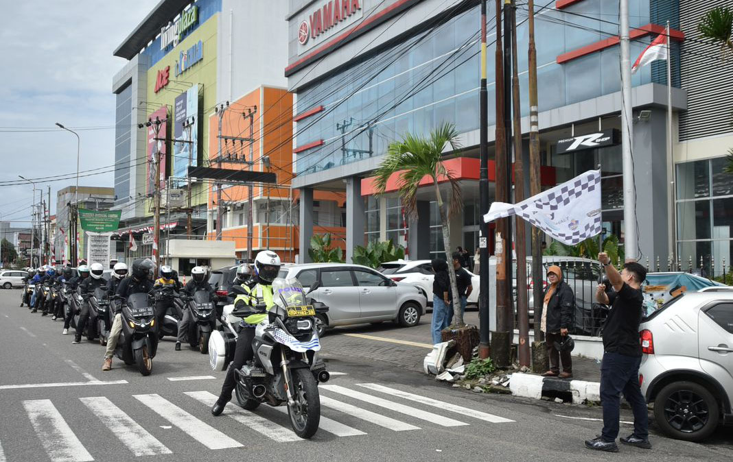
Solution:
<path fill-rule="evenodd" d="M 575 309 L 575 294 L 572 288 L 562 280 L 562 269 L 557 265 L 548 268 L 548 287 L 542 303 L 542 321 L 540 329 L 545 332 L 550 370 L 544 377 L 572 378 L 572 357 L 570 351 L 558 351 L 555 343 L 561 343 L 572 326 L 572 310 Z M 560 362 L 562 372 L 560 372 Z"/>

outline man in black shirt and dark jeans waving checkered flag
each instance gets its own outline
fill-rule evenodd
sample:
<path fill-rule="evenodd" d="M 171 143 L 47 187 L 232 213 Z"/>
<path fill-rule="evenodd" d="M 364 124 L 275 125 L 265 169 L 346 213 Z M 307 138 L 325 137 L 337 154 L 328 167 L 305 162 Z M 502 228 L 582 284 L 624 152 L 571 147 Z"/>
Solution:
<path fill-rule="evenodd" d="M 624 444 L 651 449 L 649 443 L 649 415 L 647 401 L 639 385 L 641 365 L 641 323 L 644 294 L 641 283 L 647 278 L 647 270 L 636 261 L 624 264 L 622 272 L 611 265 L 611 258 L 605 252 L 598 254 L 598 261 L 605 267 L 605 274 L 615 296 L 611 300 L 600 284 L 596 299 L 611 304 L 603 328 L 603 362 L 600 367 L 600 402 L 603 407 L 603 431 L 600 436 L 586 440 L 586 447 L 592 450 L 618 452 L 616 437 L 619 436 L 619 406 L 623 393 L 634 414 L 634 431 L 620 440 Z"/>

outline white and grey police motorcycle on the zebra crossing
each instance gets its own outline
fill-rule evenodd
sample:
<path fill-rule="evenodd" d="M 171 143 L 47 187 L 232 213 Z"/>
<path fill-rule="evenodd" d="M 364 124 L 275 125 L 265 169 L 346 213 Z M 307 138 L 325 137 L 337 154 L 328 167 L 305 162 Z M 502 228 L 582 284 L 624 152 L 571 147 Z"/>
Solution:
<path fill-rule="evenodd" d="M 243 291 L 232 288 L 240 296 L 229 316 L 268 314 L 255 328 L 254 359 L 235 370 L 237 403 L 249 411 L 260 403 L 285 404 L 292 430 L 301 438 L 310 438 L 320 422 L 317 385 L 330 378 L 325 363 L 318 358 L 320 340 L 315 316 L 327 312 L 328 307 L 310 304 L 296 279 L 278 277 L 272 287 L 274 305 L 269 311 L 265 305 L 251 308 L 242 299 Z M 233 357 L 233 343 L 229 343 L 227 353 Z"/>

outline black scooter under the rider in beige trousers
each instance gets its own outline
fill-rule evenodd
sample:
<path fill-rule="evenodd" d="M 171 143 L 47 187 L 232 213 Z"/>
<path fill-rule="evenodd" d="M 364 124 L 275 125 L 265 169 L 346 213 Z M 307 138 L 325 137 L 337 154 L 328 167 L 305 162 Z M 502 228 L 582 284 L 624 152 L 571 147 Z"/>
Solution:
<path fill-rule="evenodd" d="M 122 297 L 114 296 L 117 300 Z M 122 332 L 114 355 L 126 365 L 136 365 L 143 376 L 152 372 L 152 359 L 158 351 L 158 324 L 150 294 L 131 294 L 122 301 Z"/>

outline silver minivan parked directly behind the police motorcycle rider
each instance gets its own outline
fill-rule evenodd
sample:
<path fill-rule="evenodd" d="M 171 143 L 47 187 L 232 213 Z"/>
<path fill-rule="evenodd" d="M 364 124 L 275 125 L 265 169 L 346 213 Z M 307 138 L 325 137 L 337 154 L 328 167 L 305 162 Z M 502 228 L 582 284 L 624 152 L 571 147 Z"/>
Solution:
<path fill-rule="evenodd" d="M 326 327 L 395 321 L 416 326 L 425 313 L 427 299 L 411 284 L 398 283 L 369 267 L 354 264 L 294 264 L 280 269 L 279 277 L 295 277 L 308 296 L 328 306 L 317 315 L 320 334 Z"/>

